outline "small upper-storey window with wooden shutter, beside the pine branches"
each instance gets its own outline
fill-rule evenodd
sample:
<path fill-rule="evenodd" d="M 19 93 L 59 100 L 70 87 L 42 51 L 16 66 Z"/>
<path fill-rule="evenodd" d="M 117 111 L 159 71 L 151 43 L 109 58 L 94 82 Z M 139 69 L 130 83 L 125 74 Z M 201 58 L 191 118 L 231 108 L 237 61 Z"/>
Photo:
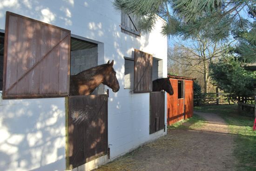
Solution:
<path fill-rule="evenodd" d="M 138 19 L 135 15 L 121 12 L 121 32 L 133 37 L 141 36 L 141 31 L 138 29 Z"/>

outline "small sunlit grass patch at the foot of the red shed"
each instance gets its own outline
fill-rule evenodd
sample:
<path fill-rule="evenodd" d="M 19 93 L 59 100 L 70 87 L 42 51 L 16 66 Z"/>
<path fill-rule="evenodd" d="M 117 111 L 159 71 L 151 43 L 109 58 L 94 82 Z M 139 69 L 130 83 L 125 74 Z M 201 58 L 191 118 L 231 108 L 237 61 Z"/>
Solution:
<path fill-rule="evenodd" d="M 196 129 L 201 128 L 205 124 L 205 119 L 195 115 L 191 118 L 187 118 L 186 120 L 181 120 L 168 126 L 168 129 L 175 130 L 175 129 Z"/>

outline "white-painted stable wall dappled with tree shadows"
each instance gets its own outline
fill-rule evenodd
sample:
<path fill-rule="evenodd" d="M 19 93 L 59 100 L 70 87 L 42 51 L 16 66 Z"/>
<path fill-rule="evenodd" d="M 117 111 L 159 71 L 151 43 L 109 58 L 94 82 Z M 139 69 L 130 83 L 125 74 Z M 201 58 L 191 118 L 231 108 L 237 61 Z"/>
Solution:
<path fill-rule="evenodd" d="M 121 33 L 121 13 L 115 11 L 111 0 L 2 0 L 0 29 L 5 29 L 5 11 L 60 26 L 71 30 L 72 34 L 101 42 L 98 51 L 104 53 L 104 60 L 99 59 L 98 63 L 115 60 L 120 90 L 116 93 L 109 91 L 108 143 L 112 145 L 111 159 L 166 133 L 160 131 L 149 135 L 149 93 L 134 94 L 124 89 L 123 57 L 132 57 L 135 48 L 162 59 L 163 77 L 167 76 L 167 38 L 160 33 L 162 19 L 159 18 L 152 33 L 136 39 Z M 54 111 L 56 109 L 58 112 Z M 64 98 L 1 100 L 0 132 L 4 132 L 6 137 L 0 140 L 0 170 L 63 170 L 64 116 Z M 55 118 L 58 118 L 56 122 Z M 44 126 L 41 128 L 38 124 Z M 28 138 L 34 144 L 29 144 Z M 83 165 L 81 169 L 89 170 L 105 162 L 108 160 L 101 158 L 93 164 Z"/>

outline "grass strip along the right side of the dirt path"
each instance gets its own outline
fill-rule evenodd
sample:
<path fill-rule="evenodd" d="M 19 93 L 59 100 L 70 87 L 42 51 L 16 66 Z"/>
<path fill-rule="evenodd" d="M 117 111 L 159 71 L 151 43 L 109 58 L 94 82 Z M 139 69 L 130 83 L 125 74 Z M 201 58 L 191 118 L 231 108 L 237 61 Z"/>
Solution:
<path fill-rule="evenodd" d="M 203 105 L 195 111 L 212 112 L 221 116 L 228 124 L 234 138 L 234 155 L 238 159 L 239 171 L 256 171 L 256 132 L 253 131 L 254 118 L 239 115 L 237 105 Z"/>

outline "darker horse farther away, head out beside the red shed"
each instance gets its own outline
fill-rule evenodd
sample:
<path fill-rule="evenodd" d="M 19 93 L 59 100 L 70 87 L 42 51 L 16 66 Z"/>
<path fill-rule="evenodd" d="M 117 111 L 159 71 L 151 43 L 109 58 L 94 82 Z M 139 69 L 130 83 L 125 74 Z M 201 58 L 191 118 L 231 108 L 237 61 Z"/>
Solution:
<path fill-rule="evenodd" d="M 161 90 L 168 92 L 169 95 L 173 95 L 173 88 L 168 78 L 155 79 L 153 81 L 152 91 L 160 92 Z"/>

